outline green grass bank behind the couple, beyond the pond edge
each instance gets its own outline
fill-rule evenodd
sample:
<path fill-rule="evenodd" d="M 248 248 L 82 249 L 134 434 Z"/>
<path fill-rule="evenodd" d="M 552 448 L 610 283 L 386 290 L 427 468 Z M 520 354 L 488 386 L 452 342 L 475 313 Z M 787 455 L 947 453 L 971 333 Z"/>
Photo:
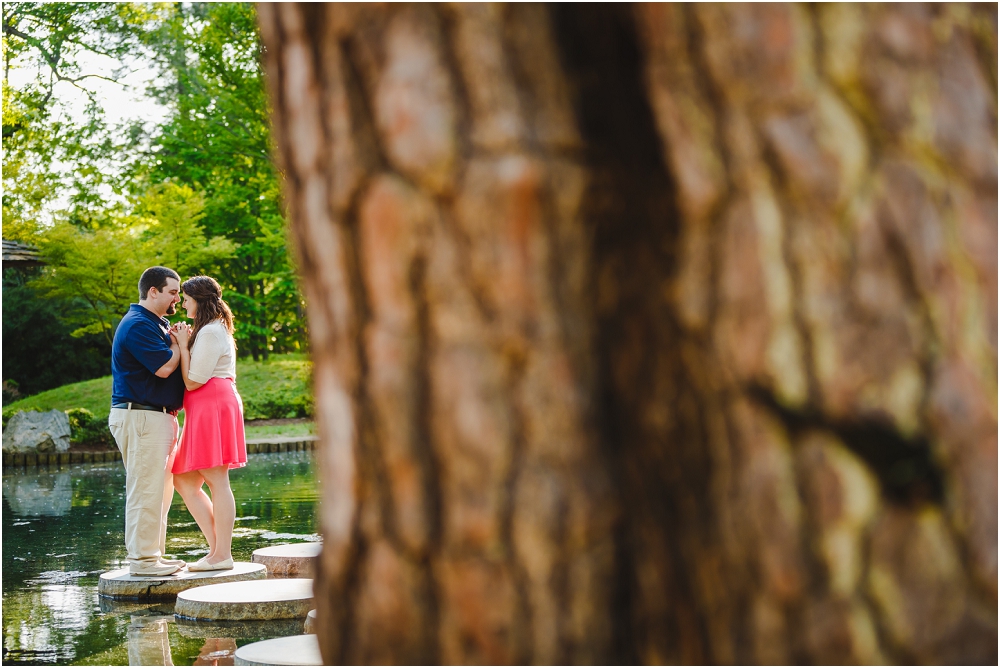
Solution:
<path fill-rule="evenodd" d="M 274 355 L 267 362 L 237 361 L 236 386 L 243 397 L 245 417 L 248 420 L 310 417 L 313 406 L 311 375 L 312 362 L 300 354 Z M 63 385 L 26 397 L 4 406 L 3 413 L 9 416 L 24 410 L 66 411 L 71 408 L 86 408 L 94 414 L 95 420 L 107 424 L 111 410 L 111 376 Z M 280 428 L 290 429 L 289 433 L 281 435 L 308 433 L 302 431 L 300 424 L 254 429 Z"/>

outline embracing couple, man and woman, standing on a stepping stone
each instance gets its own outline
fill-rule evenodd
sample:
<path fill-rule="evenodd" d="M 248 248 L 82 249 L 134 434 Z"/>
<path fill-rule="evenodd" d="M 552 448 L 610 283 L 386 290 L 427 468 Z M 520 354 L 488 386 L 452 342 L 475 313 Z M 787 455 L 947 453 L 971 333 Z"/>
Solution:
<path fill-rule="evenodd" d="M 173 326 L 165 316 L 184 309 L 194 321 Z M 233 314 L 215 279 L 180 282 L 167 267 L 150 267 L 115 331 L 108 427 L 125 462 L 125 546 L 129 573 L 172 575 L 233 567 L 236 500 L 229 469 L 247 461 L 243 402 L 236 392 Z M 184 433 L 177 444 L 177 412 Z M 212 491 L 209 499 L 202 486 Z M 193 564 L 167 559 L 167 511 L 174 488 L 208 540 Z"/>

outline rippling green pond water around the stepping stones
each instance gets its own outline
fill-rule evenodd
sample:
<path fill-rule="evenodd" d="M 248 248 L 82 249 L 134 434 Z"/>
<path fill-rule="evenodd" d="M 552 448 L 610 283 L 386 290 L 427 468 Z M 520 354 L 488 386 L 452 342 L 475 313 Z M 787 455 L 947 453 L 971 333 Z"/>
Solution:
<path fill-rule="evenodd" d="M 313 462 L 312 452 L 259 454 L 230 473 L 237 560 L 319 540 Z M 178 623 L 172 602 L 99 597 L 100 574 L 125 565 L 124 527 L 121 462 L 3 474 L 4 665 L 233 665 L 237 647 L 302 632 L 298 621 Z M 187 561 L 208 552 L 176 493 L 167 552 Z"/>

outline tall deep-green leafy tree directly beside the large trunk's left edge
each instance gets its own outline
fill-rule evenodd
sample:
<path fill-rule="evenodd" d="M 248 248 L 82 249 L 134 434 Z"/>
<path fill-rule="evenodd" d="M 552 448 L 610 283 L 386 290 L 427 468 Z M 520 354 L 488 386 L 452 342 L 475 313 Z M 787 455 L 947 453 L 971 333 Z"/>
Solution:
<path fill-rule="evenodd" d="M 261 44 L 249 3 L 175 5 L 149 42 L 175 110 L 154 137 L 142 178 L 205 193 L 206 234 L 239 247 L 216 276 L 233 309 L 240 354 L 303 350 L 302 298 L 270 158 Z"/>

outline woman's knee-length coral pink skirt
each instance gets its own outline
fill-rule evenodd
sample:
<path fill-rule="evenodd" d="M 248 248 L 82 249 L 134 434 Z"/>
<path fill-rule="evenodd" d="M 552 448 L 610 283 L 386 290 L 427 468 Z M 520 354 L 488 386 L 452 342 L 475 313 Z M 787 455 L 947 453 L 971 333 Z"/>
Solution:
<path fill-rule="evenodd" d="M 210 378 L 184 393 L 184 433 L 173 473 L 246 466 L 243 400 L 232 378 Z"/>

